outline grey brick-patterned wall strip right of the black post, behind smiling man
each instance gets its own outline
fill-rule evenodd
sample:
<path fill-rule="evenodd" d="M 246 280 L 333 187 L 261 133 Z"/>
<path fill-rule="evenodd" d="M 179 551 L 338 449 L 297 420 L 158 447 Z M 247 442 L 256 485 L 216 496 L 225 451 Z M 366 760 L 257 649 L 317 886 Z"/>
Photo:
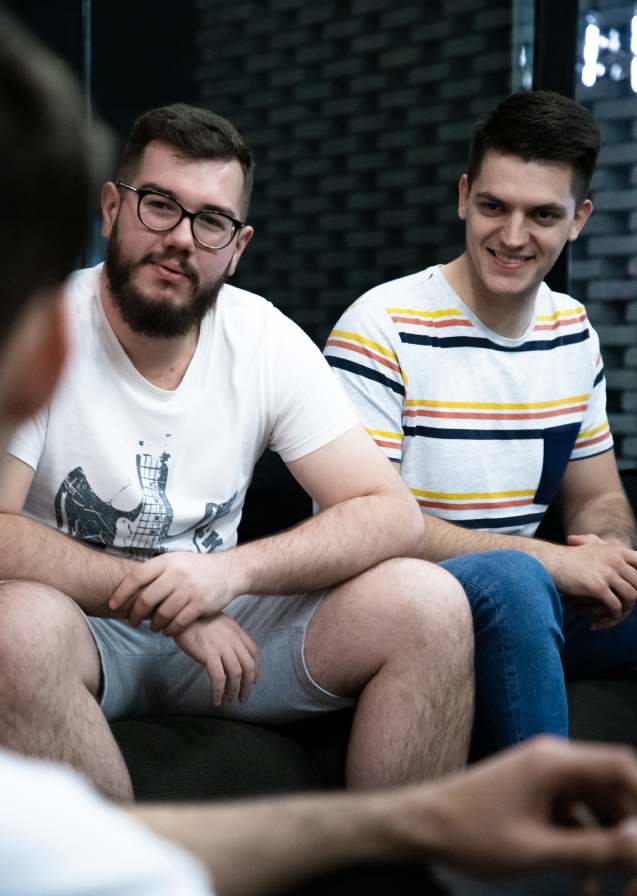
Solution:
<path fill-rule="evenodd" d="M 630 44 L 632 6 L 603 0 L 602 34 L 620 31 Z M 580 47 L 581 56 L 581 47 Z M 627 77 L 577 87 L 593 113 L 602 151 L 591 184 L 595 211 L 573 244 L 571 293 L 585 303 L 599 332 L 608 389 L 608 417 L 619 464 L 637 466 L 637 95 Z"/>

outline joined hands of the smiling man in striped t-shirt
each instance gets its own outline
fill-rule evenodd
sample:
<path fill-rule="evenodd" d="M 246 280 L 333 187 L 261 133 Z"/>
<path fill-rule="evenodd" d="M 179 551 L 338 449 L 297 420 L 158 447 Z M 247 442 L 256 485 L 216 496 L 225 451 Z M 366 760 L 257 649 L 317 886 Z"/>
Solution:
<path fill-rule="evenodd" d="M 593 631 L 618 625 L 637 600 L 637 551 L 597 535 L 569 535 L 550 572 L 563 602 L 596 616 Z"/>

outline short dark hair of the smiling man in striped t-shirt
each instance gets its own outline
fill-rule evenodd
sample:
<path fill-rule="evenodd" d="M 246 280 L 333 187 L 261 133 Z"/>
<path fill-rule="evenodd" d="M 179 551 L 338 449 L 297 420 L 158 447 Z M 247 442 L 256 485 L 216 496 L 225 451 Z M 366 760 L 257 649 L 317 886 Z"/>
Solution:
<path fill-rule="evenodd" d="M 574 100 L 549 90 L 514 93 L 475 124 L 467 168 L 469 189 L 491 149 L 525 162 L 571 166 L 571 189 L 580 205 L 586 199 L 600 142 L 592 115 Z"/>

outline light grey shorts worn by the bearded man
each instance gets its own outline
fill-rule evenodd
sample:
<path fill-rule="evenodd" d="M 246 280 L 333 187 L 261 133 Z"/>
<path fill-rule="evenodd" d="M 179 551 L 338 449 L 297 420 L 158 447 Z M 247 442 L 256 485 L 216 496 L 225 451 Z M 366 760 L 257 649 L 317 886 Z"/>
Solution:
<path fill-rule="evenodd" d="M 235 698 L 230 706 L 214 706 L 206 667 L 147 622 L 134 629 L 118 619 L 87 617 L 102 663 L 104 715 L 110 721 L 200 715 L 275 725 L 355 706 L 355 699 L 321 688 L 305 665 L 305 632 L 324 595 L 244 594 L 226 607 L 259 648 L 261 666 L 247 703 Z"/>

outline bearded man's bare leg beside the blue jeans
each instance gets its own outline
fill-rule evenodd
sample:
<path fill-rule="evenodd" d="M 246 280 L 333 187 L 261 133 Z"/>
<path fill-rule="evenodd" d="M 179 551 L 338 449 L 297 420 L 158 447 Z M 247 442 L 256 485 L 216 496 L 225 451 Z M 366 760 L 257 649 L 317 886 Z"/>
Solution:
<path fill-rule="evenodd" d="M 332 588 L 308 626 L 314 680 L 360 694 L 348 787 L 460 768 L 473 721 L 473 626 L 464 591 L 421 560 L 389 560 Z"/>

